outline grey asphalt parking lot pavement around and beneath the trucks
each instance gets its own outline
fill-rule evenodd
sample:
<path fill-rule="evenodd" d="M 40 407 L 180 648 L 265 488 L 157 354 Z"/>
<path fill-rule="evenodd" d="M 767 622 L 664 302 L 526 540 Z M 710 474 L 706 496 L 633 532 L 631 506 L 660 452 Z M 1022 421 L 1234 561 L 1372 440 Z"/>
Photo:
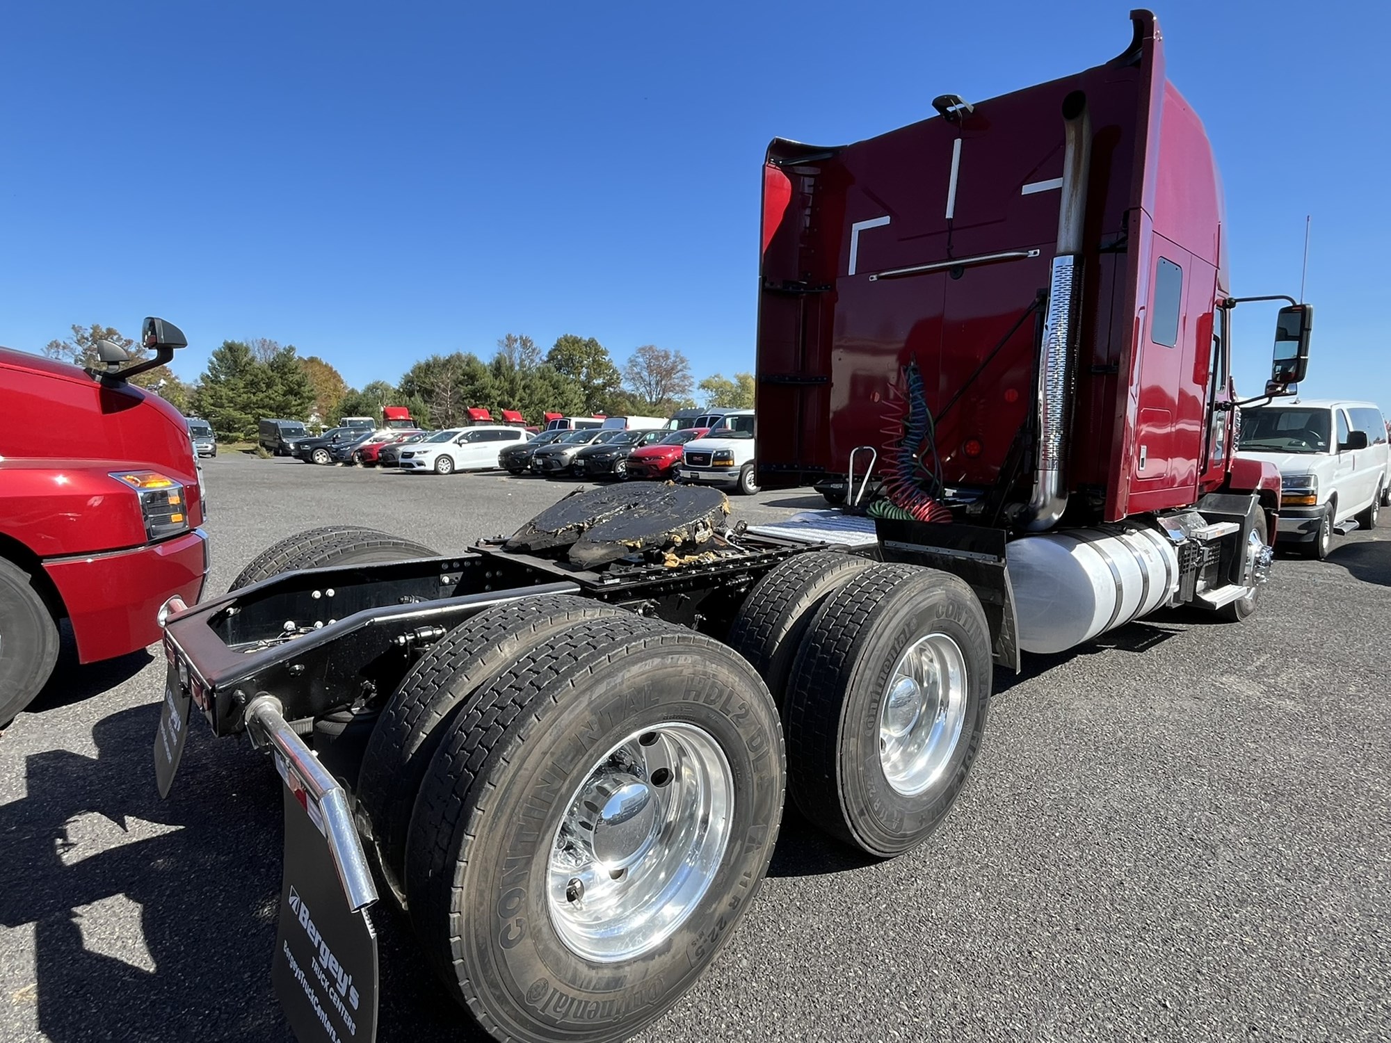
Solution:
<path fill-rule="evenodd" d="M 441 551 L 568 483 L 206 463 L 210 591 L 353 523 Z M 765 520 L 808 492 L 736 498 Z M 1280 556 L 1256 617 L 1173 611 L 996 673 L 946 825 L 869 862 L 785 822 L 730 944 L 641 1037 L 1391 1037 L 1391 516 Z M 0 734 L 0 1039 L 288 1040 L 270 985 L 280 782 L 195 727 L 171 798 L 157 648 L 79 666 Z M 383 1040 L 470 1040 L 388 903 Z"/>

